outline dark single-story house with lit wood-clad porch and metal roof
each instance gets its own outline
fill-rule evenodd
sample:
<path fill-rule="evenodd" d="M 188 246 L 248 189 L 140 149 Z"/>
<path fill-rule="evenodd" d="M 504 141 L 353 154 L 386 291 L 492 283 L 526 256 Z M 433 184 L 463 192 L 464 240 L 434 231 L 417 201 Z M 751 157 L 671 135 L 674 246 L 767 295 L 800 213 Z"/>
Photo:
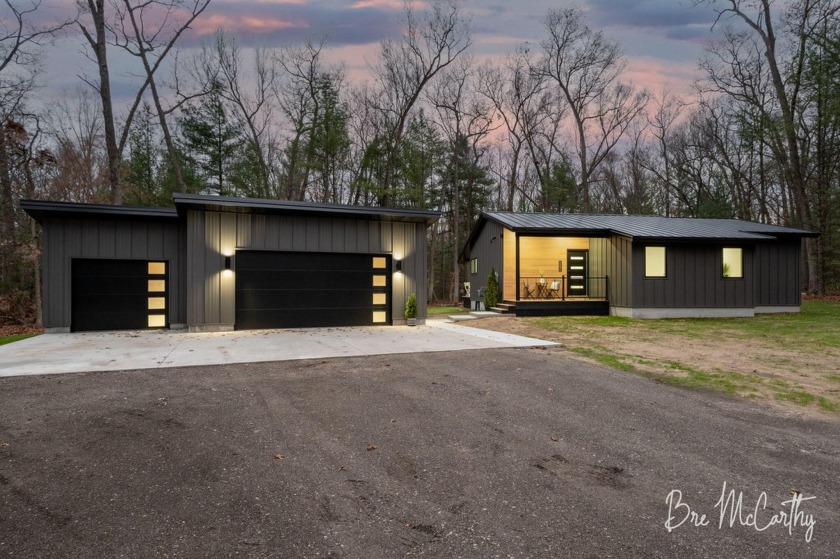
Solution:
<path fill-rule="evenodd" d="M 499 277 L 520 316 L 736 317 L 798 312 L 803 237 L 735 219 L 482 213 L 464 248 L 471 297 Z"/>

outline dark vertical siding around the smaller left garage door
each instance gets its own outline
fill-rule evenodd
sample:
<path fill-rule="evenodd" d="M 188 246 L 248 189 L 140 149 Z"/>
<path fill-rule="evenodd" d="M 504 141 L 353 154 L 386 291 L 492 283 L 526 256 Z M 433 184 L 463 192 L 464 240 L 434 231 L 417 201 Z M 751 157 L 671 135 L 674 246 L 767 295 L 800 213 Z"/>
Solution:
<path fill-rule="evenodd" d="M 70 328 L 74 258 L 161 260 L 169 263 L 169 323 L 184 324 L 186 237 L 181 224 L 141 219 L 47 218 L 43 223 L 44 327 Z"/>

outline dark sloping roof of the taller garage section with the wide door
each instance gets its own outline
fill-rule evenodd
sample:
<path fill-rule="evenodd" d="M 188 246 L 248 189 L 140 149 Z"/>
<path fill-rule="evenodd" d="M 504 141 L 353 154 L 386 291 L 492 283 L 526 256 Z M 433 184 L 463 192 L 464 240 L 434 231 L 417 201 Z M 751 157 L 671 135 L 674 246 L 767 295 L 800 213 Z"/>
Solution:
<path fill-rule="evenodd" d="M 312 202 L 292 202 L 289 200 L 269 200 L 262 198 L 237 198 L 232 196 L 213 196 L 205 194 L 175 194 L 175 207 L 179 211 L 188 208 L 200 208 L 209 211 L 245 212 L 245 213 L 282 213 L 322 217 L 347 217 L 384 221 L 407 221 L 431 223 L 440 219 L 440 212 L 429 210 L 409 210 L 400 208 L 375 208 L 369 206 L 350 206 L 341 204 L 317 204 Z"/>

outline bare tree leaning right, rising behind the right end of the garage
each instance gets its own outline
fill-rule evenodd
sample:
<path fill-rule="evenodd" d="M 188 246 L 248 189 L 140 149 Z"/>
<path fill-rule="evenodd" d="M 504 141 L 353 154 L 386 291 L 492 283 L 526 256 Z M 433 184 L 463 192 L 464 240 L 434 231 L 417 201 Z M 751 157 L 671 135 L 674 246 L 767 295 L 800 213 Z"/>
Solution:
<path fill-rule="evenodd" d="M 401 41 L 383 40 L 379 60 L 372 68 L 380 88 L 380 95 L 372 99 L 387 126 L 383 138 L 386 165 L 379 195 L 383 206 L 391 203 L 402 137 L 412 110 L 429 82 L 470 45 L 466 22 L 454 0 L 437 1 L 419 17 L 410 0 L 404 3 L 404 10 Z"/>

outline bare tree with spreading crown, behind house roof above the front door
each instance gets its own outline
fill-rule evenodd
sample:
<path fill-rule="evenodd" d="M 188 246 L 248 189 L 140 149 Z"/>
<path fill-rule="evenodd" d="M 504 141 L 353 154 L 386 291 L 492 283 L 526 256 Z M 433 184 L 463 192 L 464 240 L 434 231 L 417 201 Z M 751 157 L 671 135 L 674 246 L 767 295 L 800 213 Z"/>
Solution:
<path fill-rule="evenodd" d="M 618 45 L 594 31 L 577 8 L 545 19 L 542 71 L 568 105 L 577 140 L 581 209 L 590 211 L 589 182 L 647 102 L 645 91 L 621 83 L 626 66 Z"/>

